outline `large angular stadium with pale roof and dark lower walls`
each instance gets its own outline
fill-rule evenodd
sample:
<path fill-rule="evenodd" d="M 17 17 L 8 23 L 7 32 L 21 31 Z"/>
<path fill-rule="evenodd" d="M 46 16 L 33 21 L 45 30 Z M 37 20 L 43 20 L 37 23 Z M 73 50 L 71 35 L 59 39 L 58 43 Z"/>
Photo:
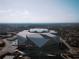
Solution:
<path fill-rule="evenodd" d="M 17 34 L 18 48 L 29 56 L 59 55 L 60 37 L 48 29 L 30 29 Z"/>

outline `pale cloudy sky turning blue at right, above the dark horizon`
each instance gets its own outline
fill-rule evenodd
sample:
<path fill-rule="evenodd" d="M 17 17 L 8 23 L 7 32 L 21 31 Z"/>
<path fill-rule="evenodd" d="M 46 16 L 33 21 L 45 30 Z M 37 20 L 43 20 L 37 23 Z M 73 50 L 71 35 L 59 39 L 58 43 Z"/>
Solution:
<path fill-rule="evenodd" d="M 0 0 L 0 23 L 79 23 L 79 0 Z"/>

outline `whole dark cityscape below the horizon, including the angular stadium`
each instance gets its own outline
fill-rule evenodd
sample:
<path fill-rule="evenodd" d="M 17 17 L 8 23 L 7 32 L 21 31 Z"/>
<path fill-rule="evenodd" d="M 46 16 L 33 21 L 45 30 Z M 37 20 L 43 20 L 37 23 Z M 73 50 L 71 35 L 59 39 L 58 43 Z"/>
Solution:
<path fill-rule="evenodd" d="M 0 58 L 78 59 L 78 31 L 78 23 L 0 24 Z"/>

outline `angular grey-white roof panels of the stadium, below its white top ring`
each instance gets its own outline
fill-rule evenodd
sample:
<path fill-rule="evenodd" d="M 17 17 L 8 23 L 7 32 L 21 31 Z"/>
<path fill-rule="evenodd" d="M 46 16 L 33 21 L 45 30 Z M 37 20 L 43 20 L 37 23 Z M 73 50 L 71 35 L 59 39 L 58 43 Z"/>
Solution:
<path fill-rule="evenodd" d="M 45 38 L 46 35 L 48 38 Z M 52 38 L 53 42 L 52 43 L 58 43 L 59 39 L 57 38 L 56 35 L 53 35 L 51 33 L 32 33 L 29 32 L 28 30 L 21 31 L 17 34 L 18 36 L 18 41 L 19 44 L 25 45 L 27 40 L 32 41 L 36 46 L 39 48 L 44 46 L 50 38 Z"/>

